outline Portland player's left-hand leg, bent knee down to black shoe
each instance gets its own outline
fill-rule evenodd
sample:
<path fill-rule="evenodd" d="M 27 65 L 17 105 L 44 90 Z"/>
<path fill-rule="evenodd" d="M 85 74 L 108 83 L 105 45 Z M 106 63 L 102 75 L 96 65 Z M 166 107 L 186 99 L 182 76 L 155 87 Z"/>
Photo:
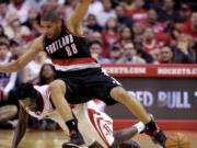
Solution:
<path fill-rule="evenodd" d="M 74 148 L 80 145 L 83 145 L 84 140 L 81 134 L 79 133 L 78 125 L 72 116 L 70 105 L 65 99 L 65 94 L 67 91 L 66 83 L 62 80 L 55 80 L 49 84 L 49 90 L 54 105 L 61 115 L 62 119 L 66 122 L 70 132 L 70 141 L 65 143 L 62 145 L 62 148 L 69 148 L 69 147 Z"/>

